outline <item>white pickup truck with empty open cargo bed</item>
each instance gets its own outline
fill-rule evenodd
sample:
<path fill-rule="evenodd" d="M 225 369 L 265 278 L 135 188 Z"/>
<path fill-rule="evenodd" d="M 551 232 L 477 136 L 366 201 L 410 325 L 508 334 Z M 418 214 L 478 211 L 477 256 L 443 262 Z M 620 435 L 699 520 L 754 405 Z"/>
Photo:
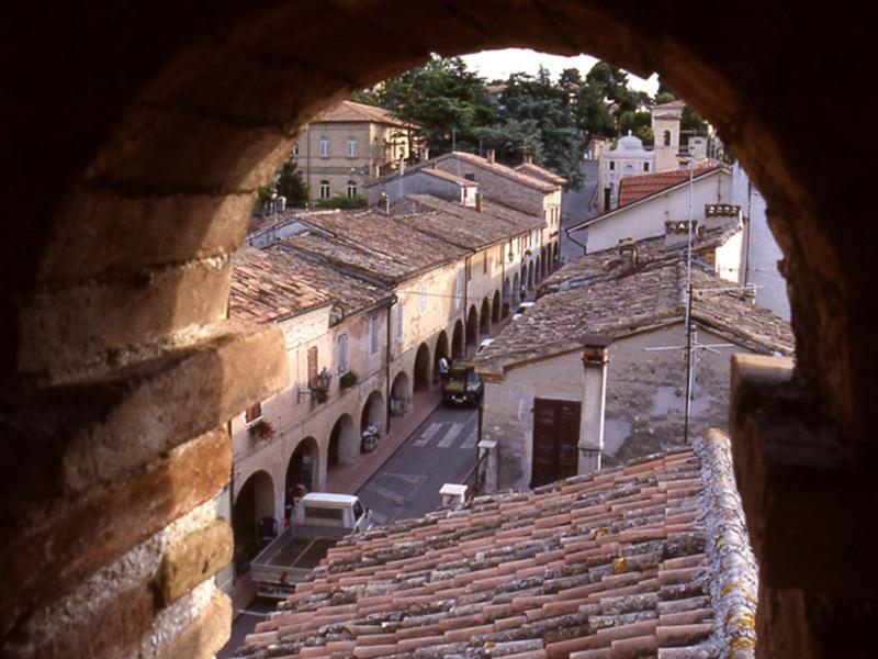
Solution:
<path fill-rule="evenodd" d="M 256 591 L 283 599 L 347 535 L 369 528 L 372 512 L 352 494 L 311 492 L 293 506 L 290 526 L 250 565 Z"/>

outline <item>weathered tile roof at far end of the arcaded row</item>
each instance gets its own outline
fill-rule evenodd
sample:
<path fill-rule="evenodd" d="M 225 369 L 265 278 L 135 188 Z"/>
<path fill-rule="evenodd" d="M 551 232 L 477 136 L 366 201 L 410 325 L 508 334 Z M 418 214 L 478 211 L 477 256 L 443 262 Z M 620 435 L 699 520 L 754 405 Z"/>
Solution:
<path fill-rule="evenodd" d="M 431 194 L 408 194 L 394 204 L 393 213 L 418 231 L 468 249 L 481 249 L 544 225 L 541 217 L 496 203 L 483 201 L 480 212 Z"/>

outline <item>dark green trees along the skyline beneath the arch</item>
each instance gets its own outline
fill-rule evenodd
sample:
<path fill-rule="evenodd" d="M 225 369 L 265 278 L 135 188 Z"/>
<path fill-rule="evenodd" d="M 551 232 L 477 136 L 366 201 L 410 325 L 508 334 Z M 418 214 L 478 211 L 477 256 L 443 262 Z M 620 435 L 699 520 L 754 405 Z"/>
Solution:
<path fill-rule="evenodd" d="M 491 88 L 491 89 L 488 89 Z M 672 100 L 663 89 L 663 100 Z M 378 104 L 417 123 L 432 155 L 458 150 L 496 152 L 497 159 L 518 165 L 530 156 L 578 189 L 585 146 L 594 136 L 618 137 L 631 131 L 653 144 L 649 94 L 629 87 L 628 74 L 598 62 L 583 76 L 562 71 L 553 81 L 541 68 L 536 76 L 513 74 L 488 86 L 459 57 L 434 56 L 352 100 Z M 335 206 L 333 206 L 335 208 Z"/>

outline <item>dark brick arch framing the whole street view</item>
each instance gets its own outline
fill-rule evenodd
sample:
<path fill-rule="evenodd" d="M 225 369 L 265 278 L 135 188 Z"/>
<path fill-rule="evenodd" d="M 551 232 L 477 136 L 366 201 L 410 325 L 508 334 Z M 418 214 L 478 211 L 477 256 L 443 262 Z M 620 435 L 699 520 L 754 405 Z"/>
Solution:
<path fill-rule="evenodd" d="M 878 351 L 874 325 L 860 312 L 876 306 L 875 230 L 863 222 L 871 149 L 835 167 L 834 152 L 813 130 L 835 111 L 834 94 L 812 93 L 834 88 L 834 69 L 868 79 L 871 56 L 856 12 L 823 16 L 745 1 L 738 18 L 696 31 L 693 22 L 706 14 L 680 22 L 661 5 L 648 12 L 572 0 L 516 11 L 499 0 L 473 0 L 465 11 L 428 0 L 359 7 L 327 13 L 320 4 L 241 8 L 221 0 L 210 11 L 191 3 L 169 15 L 155 3 L 106 3 L 16 21 L 9 47 L 23 55 L 3 66 L 24 65 L 27 75 L 3 76 L 7 98 L 16 99 L 5 146 L 22 157 L 4 181 L 11 197 L 4 210 L 15 222 L 0 241 L 0 334 L 10 337 L 0 347 L 0 373 L 11 410 L 2 463 L 15 465 L 2 487 L 19 517 L 5 537 L 30 546 L 42 529 L 16 522 L 46 501 L 60 502 L 52 509 L 57 520 L 41 518 L 49 527 L 58 521 L 61 533 L 85 514 L 86 500 L 146 487 L 136 480 L 143 469 L 175 446 L 185 443 L 203 459 L 195 461 L 202 480 L 190 481 L 188 499 L 162 490 L 168 504 L 148 524 L 127 534 L 103 529 L 113 543 L 79 555 L 75 569 L 59 551 L 57 565 L 43 566 L 44 578 L 25 579 L 23 563 L 5 559 L 0 568 L 15 588 L 9 602 L 0 601 L 3 634 L 222 485 L 229 451 L 215 428 L 286 382 L 279 332 L 217 322 L 225 255 L 241 241 L 255 189 L 317 110 L 429 52 L 518 45 L 596 53 L 644 75 L 661 70 L 719 129 L 768 200 L 786 257 L 798 378 L 813 382 L 842 445 L 874 462 L 878 443 L 868 428 L 878 416 L 870 404 Z M 359 38 L 363 24 L 384 36 L 382 47 Z M 729 47 L 742 34 L 748 47 Z M 315 60 L 329 42 L 331 57 Z M 812 43 L 832 52 L 835 66 L 826 67 Z M 788 58 L 795 67 L 785 65 Z M 863 101 L 851 103 L 853 125 L 870 123 L 866 87 L 848 94 Z M 177 334 L 190 344 L 162 343 L 205 325 L 211 333 Z M 194 384 L 198 401 L 188 395 Z M 150 411 L 159 406 L 160 417 Z M 33 443 L 55 450 L 25 450 Z M 89 457 L 98 449 L 100 470 Z M 193 455 L 173 454 L 155 469 L 179 468 Z M 136 514 L 114 515 L 108 520 L 117 532 Z M 123 654 L 117 646 L 93 649 L 102 650 Z"/>

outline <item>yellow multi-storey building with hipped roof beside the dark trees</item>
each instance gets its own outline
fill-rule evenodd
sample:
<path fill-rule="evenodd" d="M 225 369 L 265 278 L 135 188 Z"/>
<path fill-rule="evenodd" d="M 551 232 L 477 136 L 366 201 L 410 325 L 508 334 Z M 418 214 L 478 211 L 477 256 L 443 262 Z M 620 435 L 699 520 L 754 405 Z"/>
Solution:
<path fill-rule="evenodd" d="M 319 114 L 293 147 L 311 199 L 361 193 L 363 185 L 409 157 L 415 129 L 383 108 L 353 101 Z"/>

